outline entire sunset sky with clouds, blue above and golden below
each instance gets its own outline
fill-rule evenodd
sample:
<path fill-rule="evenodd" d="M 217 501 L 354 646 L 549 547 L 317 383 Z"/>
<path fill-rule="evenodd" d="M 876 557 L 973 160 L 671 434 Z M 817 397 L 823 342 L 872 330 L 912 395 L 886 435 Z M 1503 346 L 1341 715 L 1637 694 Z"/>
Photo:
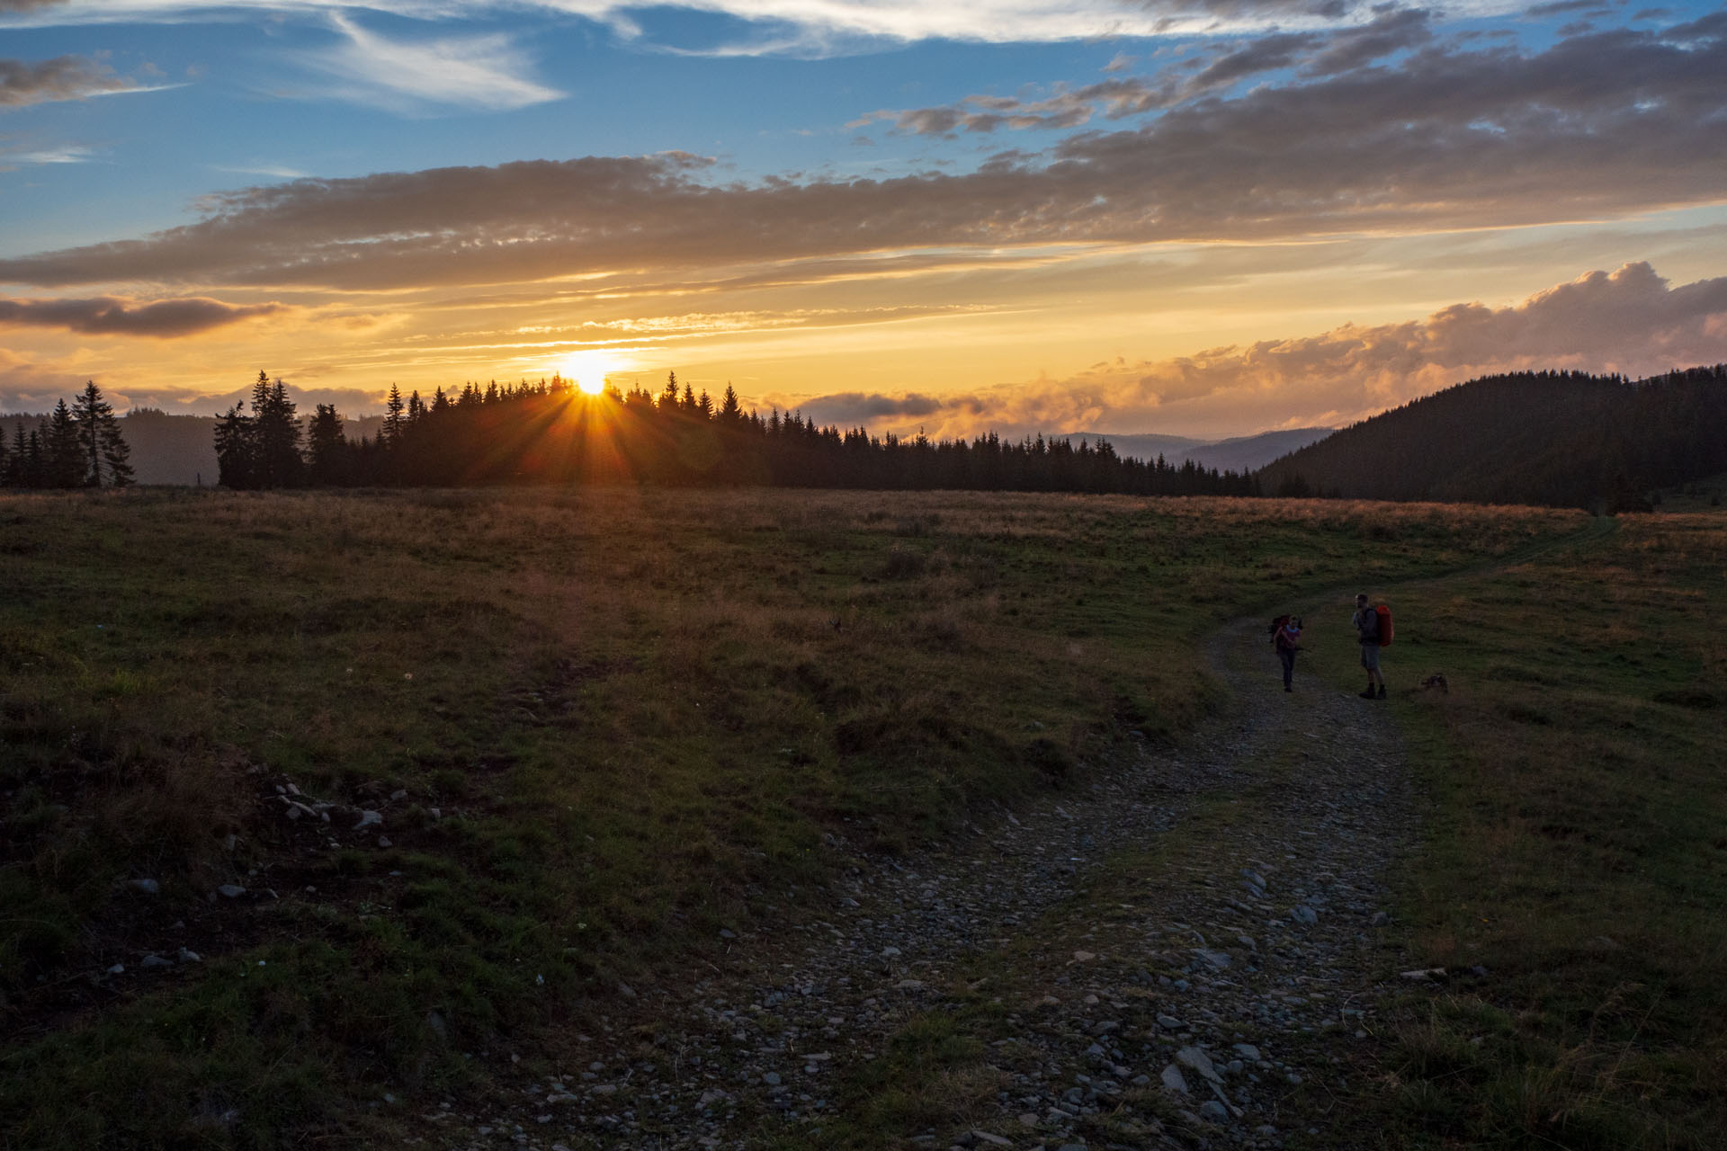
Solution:
<path fill-rule="evenodd" d="M 1720 361 L 1718 3 L 0 0 L 0 411 L 1221 438 Z"/>

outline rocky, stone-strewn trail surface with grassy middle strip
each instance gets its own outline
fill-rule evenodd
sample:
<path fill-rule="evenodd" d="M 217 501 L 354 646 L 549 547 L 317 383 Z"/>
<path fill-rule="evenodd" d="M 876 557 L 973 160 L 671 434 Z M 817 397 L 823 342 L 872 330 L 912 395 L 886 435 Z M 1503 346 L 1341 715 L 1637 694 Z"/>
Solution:
<path fill-rule="evenodd" d="M 1259 621 L 1230 711 L 941 851 L 788 892 L 796 927 L 641 992 L 582 1061 L 421 1146 L 1328 1148 L 1371 1066 L 1385 873 L 1416 792 L 1385 704 Z M 817 908 L 810 911 L 810 908 Z M 496 1058 L 496 1053 L 494 1056 Z"/>

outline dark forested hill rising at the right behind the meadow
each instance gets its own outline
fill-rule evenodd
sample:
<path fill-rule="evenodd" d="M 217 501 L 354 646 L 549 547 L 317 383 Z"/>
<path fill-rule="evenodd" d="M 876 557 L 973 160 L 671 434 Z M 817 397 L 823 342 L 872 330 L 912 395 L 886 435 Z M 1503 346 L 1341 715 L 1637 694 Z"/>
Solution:
<path fill-rule="evenodd" d="M 1727 471 L 1727 364 L 1629 381 L 1485 376 L 1364 419 L 1259 473 L 1266 495 L 1644 506 Z"/>

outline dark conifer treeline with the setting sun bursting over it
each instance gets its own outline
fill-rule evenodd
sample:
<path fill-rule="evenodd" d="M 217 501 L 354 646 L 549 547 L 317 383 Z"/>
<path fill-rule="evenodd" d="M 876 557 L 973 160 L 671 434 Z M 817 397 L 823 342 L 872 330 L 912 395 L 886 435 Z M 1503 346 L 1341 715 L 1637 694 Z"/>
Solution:
<path fill-rule="evenodd" d="M 219 481 L 275 487 L 466 487 L 501 483 L 772 485 L 1254 495 L 1252 478 L 1193 462 L 1124 459 L 1104 440 L 931 440 L 817 426 L 798 412 L 746 412 L 727 387 L 715 404 L 677 374 L 658 393 L 585 395 L 561 378 L 439 388 L 390 387 L 376 437 L 351 440 L 332 404 L 304 428 L 280 380 L 259 373 L 250 411 L 216 423 Z"/>

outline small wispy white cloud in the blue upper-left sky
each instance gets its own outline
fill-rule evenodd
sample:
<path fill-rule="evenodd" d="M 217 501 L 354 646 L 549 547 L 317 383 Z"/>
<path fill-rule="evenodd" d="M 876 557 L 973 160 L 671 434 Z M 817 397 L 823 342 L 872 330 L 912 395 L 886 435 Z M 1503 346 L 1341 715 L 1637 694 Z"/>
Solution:
<path fill-rule="evenodd" d="M 525 79 L 534 62 L 509 36 L 449 36 L 401 41 L 366 31 L 345 16 L 332 22 L 344 41 L 290 59 L 337 81 L 328 95 L 395 112 L 461 107 L 487 112 L 561 100 L 563 93 Z"/>

